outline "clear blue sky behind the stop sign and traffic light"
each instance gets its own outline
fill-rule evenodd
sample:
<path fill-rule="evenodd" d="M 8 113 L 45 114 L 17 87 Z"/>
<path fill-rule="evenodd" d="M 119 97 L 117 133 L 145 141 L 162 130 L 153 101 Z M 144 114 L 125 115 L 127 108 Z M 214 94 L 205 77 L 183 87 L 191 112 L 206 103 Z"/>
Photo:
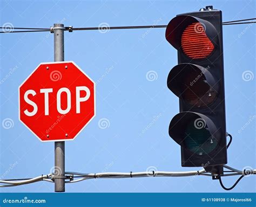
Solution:
<path fill-rule="evenodd" d="M 178 13 L 198 11 L 206 5 L 222 10 L 223 21 L 255 17 L 255 1 L 248 0 L 1 1 L 1 25 L 43 28 L 53 23 L 73 27 L 161 25 L 169 23 Z M 255 168 L 256 120 L 252 119 L 255 115 L 255 25 L 224 26 L 223 37 L 226 123 L 227 131 L 233 135 L 228 165 L 238 169 Z M 0 41 L 1 178 L 48 174 L 54 165 L 54 143 L 40 142 L 18 120 L 18 87 L 39 63 L 53 61 L 53 34 L 5 33 L 1 34 Z M 65 32 L 65 60 L 75 61 L 97 82 L 96 117 L 75 141 L 66 142 L 66 171 L 198 169 L 181 167 L 180 147 L 168 135 L 170 120 L 179 112 L 179 106 L 177 97 L 166 86 L 167 75 L 177 64 L 177 51 L 165 40 L 165 29 Z M 149 74 L 153 74 L 151 81 Z M 3 124 L 6 119 L 11 120 L 11 126 Z M 106 128 L 99 127 L 102 119 L 107 119 Z M 225 177 L 223 182 L 230 186 L 235 179 Z M 255 181 L 254 176 L 245 177 L 232 192 L 254 192 Z M 52 192 L 54 185 L 39 182 L 0 190 Z M 196 176 L 89 180 L 66 184 L 66 191 L 224 190 L 218 181 Z"/>

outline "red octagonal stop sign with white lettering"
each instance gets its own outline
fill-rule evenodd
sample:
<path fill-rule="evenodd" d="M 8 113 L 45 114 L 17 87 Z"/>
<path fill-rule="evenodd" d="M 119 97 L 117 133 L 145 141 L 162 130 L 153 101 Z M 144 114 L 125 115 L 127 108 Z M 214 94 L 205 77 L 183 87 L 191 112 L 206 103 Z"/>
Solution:
<path fill-rule="evenodd" d="M 95 82 L 72 61 L 42 63 L 19 86 L 19 119 L 41 141 L 73 140 L 95 116 Z"/>

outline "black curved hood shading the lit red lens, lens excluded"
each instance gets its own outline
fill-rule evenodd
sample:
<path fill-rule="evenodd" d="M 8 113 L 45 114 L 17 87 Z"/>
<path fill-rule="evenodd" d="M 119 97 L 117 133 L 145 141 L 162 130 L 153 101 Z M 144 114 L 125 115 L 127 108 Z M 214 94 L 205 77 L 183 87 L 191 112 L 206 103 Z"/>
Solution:
<path fill-rule="evenodd" d="M 197 27 L 196 24 L 194 29 L 200 30 L 198 32 L 205 32 L 207 37 L 211 40 L 213 45 L 218 43 L 218 33 L 215 27 L 208 21 L 200 19 L 198 17 L 192 17 L 189 15 L 180 15 L 174 17 L 166 27 L 165 38 L 166 40 L 177 50 L 181 49 L 181 36 L 187 26 L 193 23 L 200 23 L 198 25 L 203 26 L 204 31 L 201 31 L 202 27 Z"/>

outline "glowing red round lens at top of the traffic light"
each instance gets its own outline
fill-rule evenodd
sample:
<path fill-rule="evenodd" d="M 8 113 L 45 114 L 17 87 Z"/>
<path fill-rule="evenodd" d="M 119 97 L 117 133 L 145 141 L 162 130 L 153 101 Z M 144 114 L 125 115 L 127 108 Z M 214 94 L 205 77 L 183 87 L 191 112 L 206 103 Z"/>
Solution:
<path fill-rule="evenodd" d="M 191 59 L 207 58 L 214 50 L 214 45 L 205 33 L 205 26 L 192 23 L 186 27 L 181 36 L 181 48 Z"/>

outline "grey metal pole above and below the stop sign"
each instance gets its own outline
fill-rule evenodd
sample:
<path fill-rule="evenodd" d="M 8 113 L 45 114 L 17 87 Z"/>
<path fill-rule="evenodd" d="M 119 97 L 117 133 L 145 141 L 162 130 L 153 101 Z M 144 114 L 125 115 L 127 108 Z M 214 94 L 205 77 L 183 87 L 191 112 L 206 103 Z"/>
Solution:
<path fill-rule="evenodd" d="M 64 61 L 64 25 L 54 24 L 54 61 Z M 55 142 L 55 192 L 65 192 L 65 142 Z"/>

